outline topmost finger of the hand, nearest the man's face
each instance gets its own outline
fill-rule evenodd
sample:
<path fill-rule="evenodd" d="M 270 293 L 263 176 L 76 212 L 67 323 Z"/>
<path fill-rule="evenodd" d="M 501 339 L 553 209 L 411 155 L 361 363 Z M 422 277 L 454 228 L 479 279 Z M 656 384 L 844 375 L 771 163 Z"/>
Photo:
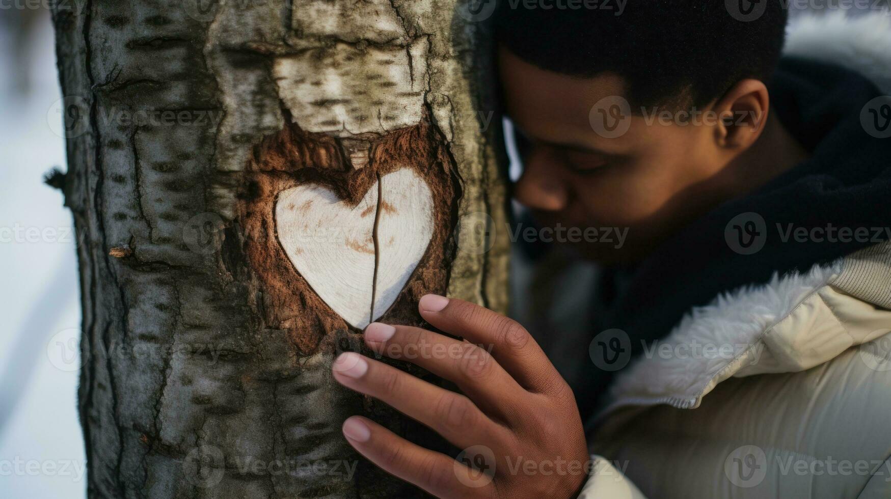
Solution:
<path fill-rule="evenodd" d="M 435 327 L 492 346 L 492 355 L 526 389 L 539 393 L 563 391 L 566 383 L 542 348 L 516 321 L 461 299 L 424 295 L 421 316 Z"/>

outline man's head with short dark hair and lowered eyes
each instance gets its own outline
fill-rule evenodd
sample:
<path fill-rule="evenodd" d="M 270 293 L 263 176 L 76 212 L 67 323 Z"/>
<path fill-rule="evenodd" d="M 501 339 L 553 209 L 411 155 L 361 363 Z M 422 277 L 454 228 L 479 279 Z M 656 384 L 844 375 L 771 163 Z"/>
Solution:
<path fill-rule="evenodd" d="M 786 12 L 760 0 L 760 15 L 740 20 L 738 1 L 639 0 L 617 15 L 610 2 L 501 0 L 499 70 L 524 153 L 517 198 L 545 224 L 628 227 L 620 251 L 585 245 L 627 261 L 744 191 L 732 165 L 764 130 Z"/>

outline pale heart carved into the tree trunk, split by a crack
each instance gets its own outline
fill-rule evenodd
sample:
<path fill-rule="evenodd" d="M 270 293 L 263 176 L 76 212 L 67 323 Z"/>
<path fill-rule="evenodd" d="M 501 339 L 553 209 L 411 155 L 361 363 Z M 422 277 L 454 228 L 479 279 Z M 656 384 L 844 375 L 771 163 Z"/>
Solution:
<path fill-rule="evenodd" d="M 275 228 L 315 293 L 363 329 L 393 305 L 427 250 L 433 199 L 409 168 L 381 177 L 355 207 L 321 184 L 303 184 L 279 192 Z"/>

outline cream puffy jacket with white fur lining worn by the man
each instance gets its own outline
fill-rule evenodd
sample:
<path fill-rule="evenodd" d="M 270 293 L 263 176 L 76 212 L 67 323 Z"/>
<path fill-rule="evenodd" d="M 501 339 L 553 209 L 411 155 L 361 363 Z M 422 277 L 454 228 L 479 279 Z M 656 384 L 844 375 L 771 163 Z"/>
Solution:
<path fill-rule="evenodd" d="M 889 49 L 872 15 L 801 21 L 786 50 L 891 94 Z M 657 347 L 614 381 L 581 498 L 891 498 L 891 243 L 718 297 Z"/>

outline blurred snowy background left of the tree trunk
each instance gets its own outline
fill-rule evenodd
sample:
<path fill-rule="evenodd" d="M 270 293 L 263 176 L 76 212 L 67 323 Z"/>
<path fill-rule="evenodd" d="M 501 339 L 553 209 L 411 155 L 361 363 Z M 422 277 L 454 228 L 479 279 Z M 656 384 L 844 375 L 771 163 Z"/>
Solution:
<path fill-rule="evenodd" d="M 0 41 L 0 497 L 85 497 L 76 240 L 42 182 L 65 169 L 48 13 L 4 8 Z"/>

